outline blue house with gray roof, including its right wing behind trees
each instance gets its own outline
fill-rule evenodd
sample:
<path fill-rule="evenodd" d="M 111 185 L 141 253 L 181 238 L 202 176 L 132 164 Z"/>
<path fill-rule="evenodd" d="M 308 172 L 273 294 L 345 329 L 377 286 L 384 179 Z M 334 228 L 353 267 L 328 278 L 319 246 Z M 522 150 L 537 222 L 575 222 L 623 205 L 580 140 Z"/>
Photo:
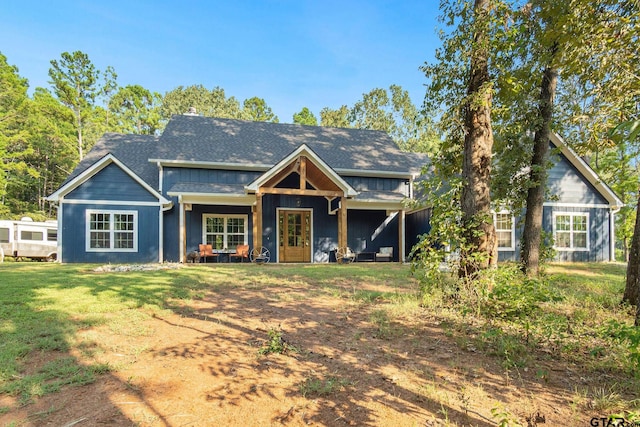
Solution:
<path fill-rule="evenodd" d="M 620 200 L 559 138 L 545 204 L 561 260 L 612 259 Z M 185 262 L 201 244 L 270 262 L 403 261 L 429 228 L 410 210 L 426 156 L 384 132 L 174 116 L 161 136 L 105 134 L 62 186 L 60 262 Z M 516 217 L 496 212 L 500 259 L 517 259 Z M 389 257 L 390 255 L 390 257 Z M 384 258 L 386 256 L 386 258 Z"/>

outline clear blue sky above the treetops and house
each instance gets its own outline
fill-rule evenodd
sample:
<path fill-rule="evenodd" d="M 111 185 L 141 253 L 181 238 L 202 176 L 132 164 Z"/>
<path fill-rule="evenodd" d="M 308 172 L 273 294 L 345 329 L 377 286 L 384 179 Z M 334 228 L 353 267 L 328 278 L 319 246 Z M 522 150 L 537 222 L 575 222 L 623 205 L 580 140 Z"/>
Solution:
<path fill-rule="evenodd" d="M 120 86 L 164 94 L 220 86 L 240 102 L 264 98 L 281 122 L 308 107 L 353 105 L 398 84 L 420 106 L 439 40 L 438 2 L 15 1 L 0 2 L 0 52 L 31 89 L 50 87 L 62 52 L 81 50 Z"/>

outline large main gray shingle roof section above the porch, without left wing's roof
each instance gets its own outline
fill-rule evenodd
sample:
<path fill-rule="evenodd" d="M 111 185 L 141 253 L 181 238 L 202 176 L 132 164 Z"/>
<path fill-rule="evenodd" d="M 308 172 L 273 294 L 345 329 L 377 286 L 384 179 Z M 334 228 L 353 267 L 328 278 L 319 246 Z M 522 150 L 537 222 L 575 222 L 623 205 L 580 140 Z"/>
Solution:
<path fill-rule="evenodd" d="M 173 116 L 158 158 L 273 166 L 306 144 L 333 169 L 419 172 L 426 159 L 400 151 L 388 134 L 363 129 Z"/>

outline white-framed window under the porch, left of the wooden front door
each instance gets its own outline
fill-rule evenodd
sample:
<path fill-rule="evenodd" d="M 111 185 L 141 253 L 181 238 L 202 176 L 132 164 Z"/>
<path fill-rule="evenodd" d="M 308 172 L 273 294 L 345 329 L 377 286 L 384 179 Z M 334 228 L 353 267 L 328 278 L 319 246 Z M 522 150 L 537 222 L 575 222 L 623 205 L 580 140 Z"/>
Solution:
<path fill-rule="evenodd" d="M 213 249 L 235 249 L 247 244 L 247 215 L 206 214 L 202 219 L 202 242 Z"/>

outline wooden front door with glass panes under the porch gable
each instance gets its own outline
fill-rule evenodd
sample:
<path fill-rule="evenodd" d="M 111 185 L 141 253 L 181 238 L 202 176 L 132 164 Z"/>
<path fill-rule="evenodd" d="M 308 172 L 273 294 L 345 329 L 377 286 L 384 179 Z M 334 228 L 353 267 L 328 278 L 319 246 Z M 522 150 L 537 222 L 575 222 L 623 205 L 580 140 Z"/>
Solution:
<path fill-rule="evenodd" d="M 311 262 L 311 212 L 278 213 L 279 262 Z"/>

